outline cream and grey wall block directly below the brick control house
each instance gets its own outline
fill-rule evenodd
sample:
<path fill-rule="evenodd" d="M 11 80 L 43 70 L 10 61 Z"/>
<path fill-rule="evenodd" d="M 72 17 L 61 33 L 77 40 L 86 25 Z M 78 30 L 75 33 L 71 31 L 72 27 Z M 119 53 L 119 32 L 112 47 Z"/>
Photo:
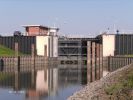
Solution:
<path fill-rule="evenodd" d="M 45 51 L 44 46 L 47 46 Z M 36 36 L 37 55 L 44 56 L 47 52 L 48 57 L 58 57 L 58 37 L 57 36 Z"/>

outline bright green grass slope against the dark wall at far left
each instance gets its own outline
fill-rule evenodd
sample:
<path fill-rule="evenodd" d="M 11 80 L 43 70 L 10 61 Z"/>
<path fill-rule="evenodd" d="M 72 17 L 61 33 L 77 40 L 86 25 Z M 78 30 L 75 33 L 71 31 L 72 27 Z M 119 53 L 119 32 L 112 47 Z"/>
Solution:
<path fill-rule="evenodd" d="M 9 49 L 3 45 L 0 45 L 0 56 L 14 56 L 15 51 L 12 49 Z M 23 55 L 22 53 L 19 52 L 19 55 Z"/>

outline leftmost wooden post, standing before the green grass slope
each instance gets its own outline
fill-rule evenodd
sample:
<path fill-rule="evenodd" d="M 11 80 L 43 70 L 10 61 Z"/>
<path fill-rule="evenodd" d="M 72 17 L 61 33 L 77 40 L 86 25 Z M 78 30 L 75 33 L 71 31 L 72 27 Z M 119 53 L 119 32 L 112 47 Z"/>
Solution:
<path fill-rule="evenodd" d="M 18 43 L 15 42 L 15 58 L 14 58 L 14 69 L 15 72 L 18 72 L 20 69 L 20 57 L 18 56 Z"/>

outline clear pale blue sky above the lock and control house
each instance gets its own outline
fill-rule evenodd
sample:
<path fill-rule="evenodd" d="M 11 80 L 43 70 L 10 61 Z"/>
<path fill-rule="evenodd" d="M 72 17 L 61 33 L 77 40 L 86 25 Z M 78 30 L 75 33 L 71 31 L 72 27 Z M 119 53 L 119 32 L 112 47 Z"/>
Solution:
<path fill-rule="evenodd" d="M 132 31 L 133 0 L 0 0 L 1 35 L 31 24 L 59 27 L 63 35 Z"/>

